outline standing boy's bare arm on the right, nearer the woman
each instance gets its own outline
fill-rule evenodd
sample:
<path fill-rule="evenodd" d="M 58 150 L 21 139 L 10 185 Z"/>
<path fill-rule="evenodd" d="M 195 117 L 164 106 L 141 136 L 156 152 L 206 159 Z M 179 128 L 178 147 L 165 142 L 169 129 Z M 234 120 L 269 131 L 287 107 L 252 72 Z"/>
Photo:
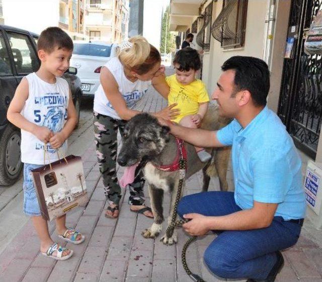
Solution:
<path fill-rule="evenodd" d="M 57 132 L 49 139 L 50 145 L 57 149 L 59 148 L 65 140 L 69 137 L 69 135 L 72 133 L 73 129 L 75 128 L 77 123 L 77 113 L 75 110 L 74 103 L 72 101 L 71 92 L 69 89 L 69 101 L 67 106 L 67 120 L 63 127 L 63 129 L 60 132 Z"/>

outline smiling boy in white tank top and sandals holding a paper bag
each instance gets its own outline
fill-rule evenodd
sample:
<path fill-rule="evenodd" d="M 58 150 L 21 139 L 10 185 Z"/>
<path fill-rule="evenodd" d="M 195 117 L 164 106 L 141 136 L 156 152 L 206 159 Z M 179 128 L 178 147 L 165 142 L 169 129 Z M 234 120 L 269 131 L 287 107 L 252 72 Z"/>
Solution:
<path fill-rule="evenodd" d="M 66 154 L 67 138 L 76 125 L 76 111 L 68 83 L 61 78 L 69 67 L 73 43 L 58 27 L 49 27 L 37 42 L 39 70 L 24 77 L 12 99 L 7 118 L 21 128 L 21 160 L 24 162 L 24 213 L 30 215 L 40 239 L 42 254 L 56 260 L 71 257 L 68 250 L 53 242 L 42 218 L 30 171 L 58 160 L 56 150 Z M 47 147 L 49 159 L 44 160 Z M 46 154 L 47 156 L 47 154 Z M 79 244 L 85 237 L 65 226 L 66 215 L 56 218 L 56 232 L 63 240 Z"/>

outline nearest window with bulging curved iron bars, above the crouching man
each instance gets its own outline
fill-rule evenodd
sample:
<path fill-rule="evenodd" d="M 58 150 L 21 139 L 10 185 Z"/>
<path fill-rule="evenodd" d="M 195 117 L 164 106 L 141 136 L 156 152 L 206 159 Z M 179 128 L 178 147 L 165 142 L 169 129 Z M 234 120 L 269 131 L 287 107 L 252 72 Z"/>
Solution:
<path fill-rule="evenodd" d="M 224 0 L 222 5 L 211 34 L 225 49 L 244 46 L 248 0 Z"/>

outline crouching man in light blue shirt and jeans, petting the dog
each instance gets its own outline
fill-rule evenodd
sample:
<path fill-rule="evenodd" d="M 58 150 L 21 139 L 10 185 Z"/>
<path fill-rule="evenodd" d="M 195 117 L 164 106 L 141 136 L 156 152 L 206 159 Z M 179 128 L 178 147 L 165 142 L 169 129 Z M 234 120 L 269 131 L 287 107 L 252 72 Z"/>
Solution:
<path fill-rule="evenodd" d="M 266 106 L 266 63 L 238 56 L 221 69 L 212 98 L 221 116 L 233 118 L 229 125 L 211 132 L 160 122 L 198 147 L 232 145 L 235 191 L 186 196 L 178 213 L 191 219 L 183 225 L 190 235 L 220 231 L 204 253 L 214 274 L 274 281 L 284 264 L 280 250 L 297 242 L 305 216 L 301 160 L 285 126 Z"/>

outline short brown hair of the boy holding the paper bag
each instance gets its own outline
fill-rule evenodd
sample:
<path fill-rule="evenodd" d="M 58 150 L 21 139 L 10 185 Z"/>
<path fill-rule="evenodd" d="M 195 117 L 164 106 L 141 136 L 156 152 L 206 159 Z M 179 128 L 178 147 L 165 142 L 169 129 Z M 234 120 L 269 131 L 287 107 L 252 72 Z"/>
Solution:
<path fill-rule="evenodd" d="M 48 27 L 40 33 L 37 41 L 37 50 L 51 53 L 56 47 L 58 49 L 73 49 L 73 43 L 69 35 L 59 27 Z"/>

